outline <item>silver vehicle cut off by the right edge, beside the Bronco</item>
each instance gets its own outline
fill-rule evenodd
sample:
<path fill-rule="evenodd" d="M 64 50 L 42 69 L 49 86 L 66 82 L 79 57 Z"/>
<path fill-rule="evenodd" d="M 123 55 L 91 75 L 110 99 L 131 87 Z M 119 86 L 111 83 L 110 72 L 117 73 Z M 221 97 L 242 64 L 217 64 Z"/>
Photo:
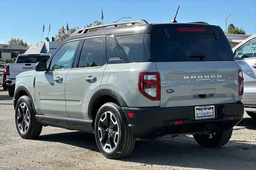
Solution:
<path fill-rule="evenodd" d="M 236 61 L 244 73 L 244 110 L 256 119 L 256 34 L 250 36 L 233 49 Z"/>

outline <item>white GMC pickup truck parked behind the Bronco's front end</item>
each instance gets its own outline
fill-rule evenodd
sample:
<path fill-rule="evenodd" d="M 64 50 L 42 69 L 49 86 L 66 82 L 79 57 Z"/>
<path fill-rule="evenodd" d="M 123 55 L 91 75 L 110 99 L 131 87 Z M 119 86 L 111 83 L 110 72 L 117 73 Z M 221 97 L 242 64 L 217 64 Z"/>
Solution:
<path fill-rule="evenodd" d="M 34 70 L 34 66 L 38 61 L 47 61 L 50 54 L 19 54 L 15 63 L 8 63 L 6 66 L 6 85 L 8 93 L 13 97 L 15 90 L 16 76 L 24 71 Z"/>

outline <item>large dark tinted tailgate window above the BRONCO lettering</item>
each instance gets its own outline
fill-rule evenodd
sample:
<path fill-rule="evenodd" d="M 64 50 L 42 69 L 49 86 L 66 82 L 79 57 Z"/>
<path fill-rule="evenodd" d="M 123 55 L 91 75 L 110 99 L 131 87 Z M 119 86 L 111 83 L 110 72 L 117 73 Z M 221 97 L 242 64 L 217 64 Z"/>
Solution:
<path fill-rule="evenodd" d="M 224 34 L 216 40 L 213 34 L 154 34 L 154 61 L 232 61 L 230 46 Z"/>

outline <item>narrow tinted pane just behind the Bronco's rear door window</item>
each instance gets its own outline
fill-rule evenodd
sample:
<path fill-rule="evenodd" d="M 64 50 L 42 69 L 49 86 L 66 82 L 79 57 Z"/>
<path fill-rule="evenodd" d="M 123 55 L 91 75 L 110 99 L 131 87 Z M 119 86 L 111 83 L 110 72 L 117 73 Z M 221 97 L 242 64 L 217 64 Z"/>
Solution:
<path fill-rule="evenodd" d="M 120 47 L 114 36 L 106 36 L 106 51 L 108 63 L 125 63 Z"/>

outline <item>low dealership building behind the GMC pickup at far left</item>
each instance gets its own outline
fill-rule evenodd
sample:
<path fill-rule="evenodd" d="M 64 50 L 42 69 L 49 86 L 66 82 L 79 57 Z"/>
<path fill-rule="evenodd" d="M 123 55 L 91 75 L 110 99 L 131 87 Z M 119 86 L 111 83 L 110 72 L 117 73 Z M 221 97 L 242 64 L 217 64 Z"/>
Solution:
<path fill-rule="evenodd" d="M 26 48 L 24 45 L 0 44 L 0 58 L 17 57 L 16 53 L 24 53 Z"/>

